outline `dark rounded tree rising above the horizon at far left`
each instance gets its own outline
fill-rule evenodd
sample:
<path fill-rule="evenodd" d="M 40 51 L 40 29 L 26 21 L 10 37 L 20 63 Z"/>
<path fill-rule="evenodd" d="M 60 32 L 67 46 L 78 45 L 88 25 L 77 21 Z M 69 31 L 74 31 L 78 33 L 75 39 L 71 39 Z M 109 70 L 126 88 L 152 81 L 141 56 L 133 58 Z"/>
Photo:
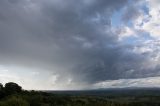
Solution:
<path fill-rule="evenodd" d="M 22 87 L 13 82 L 6 83 L 4 89 L 6 94 L 19 93 L 22 91 Z"/>

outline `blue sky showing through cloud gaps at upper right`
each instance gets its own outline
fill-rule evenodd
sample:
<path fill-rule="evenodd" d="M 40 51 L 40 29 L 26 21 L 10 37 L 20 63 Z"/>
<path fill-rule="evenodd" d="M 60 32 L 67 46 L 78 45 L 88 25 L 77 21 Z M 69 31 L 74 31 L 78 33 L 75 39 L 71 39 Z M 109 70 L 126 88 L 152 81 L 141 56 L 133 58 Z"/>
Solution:
<path fill-rule="evenodd" d="M 132 0 L 129 0 L 128 3 L 133 3 Z M 143 11 L 144 14 L 148 15 L 149 14 L 149 8 L 148 8 L 148 4 L 147 3 L 143 3 L 140 6 L 138 6 L 139 9 L 141 9 Z M 134 23 L 132 20 L 129 20 L 127 23 L 124 23 L 122 21 L 122 17 L 124 14 L 124 9 L 122 8 L 121 10 L 117 10 L 113 13 L 112 18 L 111 18 L 111 22 L 112 22 L 112 27 L 116 28 L 116 27 L 121 27 L 121 26 L 128 26 L 130 28 L 133 28 Z M 147 20 L 144 20 L 147 21 Z M 143 23 L 142 23 L 143 25 Z M 129 36 L 126 38 L 123 38 L 123 43 L 125 44 L 136 44 L 139 41 L 143 41 L 143 40 L 151 40 L 153 39 L 149 33 L 139 33 L 139 36 Z"/>

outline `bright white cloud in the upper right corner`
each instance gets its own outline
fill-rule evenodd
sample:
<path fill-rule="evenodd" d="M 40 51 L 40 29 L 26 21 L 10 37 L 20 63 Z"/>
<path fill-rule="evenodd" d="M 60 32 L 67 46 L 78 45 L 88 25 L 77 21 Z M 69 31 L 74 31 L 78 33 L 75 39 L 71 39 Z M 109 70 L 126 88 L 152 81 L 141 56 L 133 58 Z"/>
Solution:
<path fill-rule="evenodd" d="M 149 14 L 143 14 L 135 21 L 135 28 L 149 32 L 156 39 L 160 39 L 160 1 L 147 0 Z"/>

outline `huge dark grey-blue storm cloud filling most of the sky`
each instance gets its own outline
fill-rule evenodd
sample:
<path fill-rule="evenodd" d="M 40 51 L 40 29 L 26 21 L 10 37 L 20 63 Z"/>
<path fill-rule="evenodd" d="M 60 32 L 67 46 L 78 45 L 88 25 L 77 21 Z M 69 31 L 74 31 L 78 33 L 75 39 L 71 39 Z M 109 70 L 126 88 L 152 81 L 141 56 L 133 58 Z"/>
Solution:
<path fill-rule="evenodd" d="M 111 30 L 112 14 L 127 2 L 1 0 L 0 63 L 51 70 L 59 81 L 145 77 L 139 67 L 147 58 Z"/>

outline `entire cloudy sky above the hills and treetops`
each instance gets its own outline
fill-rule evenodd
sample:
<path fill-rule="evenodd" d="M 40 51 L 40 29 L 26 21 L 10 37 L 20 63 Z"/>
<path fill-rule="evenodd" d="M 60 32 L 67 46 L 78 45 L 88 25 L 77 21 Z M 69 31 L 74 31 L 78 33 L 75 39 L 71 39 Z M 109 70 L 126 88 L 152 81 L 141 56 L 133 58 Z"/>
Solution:
<path fill-rule="evenodd" d="M 160 87 L 160 0 L 0 0 L 0 83 Z"/>

